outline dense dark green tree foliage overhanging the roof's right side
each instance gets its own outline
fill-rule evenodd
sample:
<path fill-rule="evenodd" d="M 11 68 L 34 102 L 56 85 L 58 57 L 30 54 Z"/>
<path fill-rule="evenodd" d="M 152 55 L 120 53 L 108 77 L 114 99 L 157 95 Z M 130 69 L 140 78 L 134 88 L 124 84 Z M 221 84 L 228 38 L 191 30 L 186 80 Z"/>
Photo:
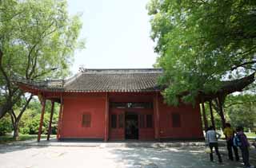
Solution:
<path fill-rule="evenodd" d="M 255 1 L 151 0 L 147 8 L 167 103 L 194 103 L 220 80 L 255 71 Z"/>

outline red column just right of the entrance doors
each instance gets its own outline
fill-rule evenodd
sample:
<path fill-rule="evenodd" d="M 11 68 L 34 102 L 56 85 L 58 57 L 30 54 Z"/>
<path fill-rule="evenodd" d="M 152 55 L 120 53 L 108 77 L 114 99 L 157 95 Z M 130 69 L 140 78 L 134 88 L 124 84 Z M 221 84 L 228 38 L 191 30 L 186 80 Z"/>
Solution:
<path fill-rule="evenodd" d="M 159 139 L 159 97 L 158 92 L 154 96 L 154 139 Z"/>

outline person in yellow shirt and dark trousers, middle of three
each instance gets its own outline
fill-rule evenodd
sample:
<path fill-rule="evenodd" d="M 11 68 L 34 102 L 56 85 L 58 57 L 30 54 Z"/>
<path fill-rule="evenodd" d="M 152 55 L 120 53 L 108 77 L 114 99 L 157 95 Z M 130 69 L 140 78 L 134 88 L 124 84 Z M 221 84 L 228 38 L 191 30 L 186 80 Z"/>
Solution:
<path fill-rule="evenodd" d="M 231 127 L 230 123 L 226 123 L 226 127 L 223 130 L 223 134 L 226 137 L 226 147 L 227 147 L 227 151 L 228 151 L 228 154 L 229 154 L 229 159 L 234 160 L 233 152 L 232 152 L 232 148 L 233 148 L 235 160 L 239 161 L 238 147 L 235 147 L 234 144 L 233 144 L 234 133 L 235 133 L 235 131 Z"/>

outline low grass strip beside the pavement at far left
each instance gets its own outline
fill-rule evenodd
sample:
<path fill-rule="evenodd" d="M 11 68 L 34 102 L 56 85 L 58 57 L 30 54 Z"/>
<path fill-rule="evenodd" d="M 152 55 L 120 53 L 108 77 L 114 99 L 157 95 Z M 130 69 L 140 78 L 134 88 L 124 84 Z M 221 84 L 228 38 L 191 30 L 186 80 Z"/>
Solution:
<path fill-rule="evenodd" d="M 47 135 L 41 135 L 42 139 L 45 139 Z M 19 135 L 18 141 L 26 141 L 26 140 L 32 140 L 37 139 L 38 135 Z M 0 144 L 1 143 L 11 143 L 15 142 L 15 139 L 13 138 L 13 135 L 2 135 L 0 136 Z"/>

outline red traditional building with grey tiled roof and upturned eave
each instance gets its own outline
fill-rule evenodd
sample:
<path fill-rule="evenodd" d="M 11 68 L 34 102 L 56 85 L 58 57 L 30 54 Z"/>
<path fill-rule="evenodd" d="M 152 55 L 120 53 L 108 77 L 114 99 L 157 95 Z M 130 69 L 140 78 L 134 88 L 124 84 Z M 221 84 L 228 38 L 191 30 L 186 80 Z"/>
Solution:
<path fill-rule="evenodd" d="M 61 104 L 58 139 L 203 139 L 199 104 L 165 104 L 157 87 L 161 74 L 157 68 L 83 69 L 68 80 L 17 83 L 39 96 L 41 127 L 46 100 L 52 108 Z"/>

